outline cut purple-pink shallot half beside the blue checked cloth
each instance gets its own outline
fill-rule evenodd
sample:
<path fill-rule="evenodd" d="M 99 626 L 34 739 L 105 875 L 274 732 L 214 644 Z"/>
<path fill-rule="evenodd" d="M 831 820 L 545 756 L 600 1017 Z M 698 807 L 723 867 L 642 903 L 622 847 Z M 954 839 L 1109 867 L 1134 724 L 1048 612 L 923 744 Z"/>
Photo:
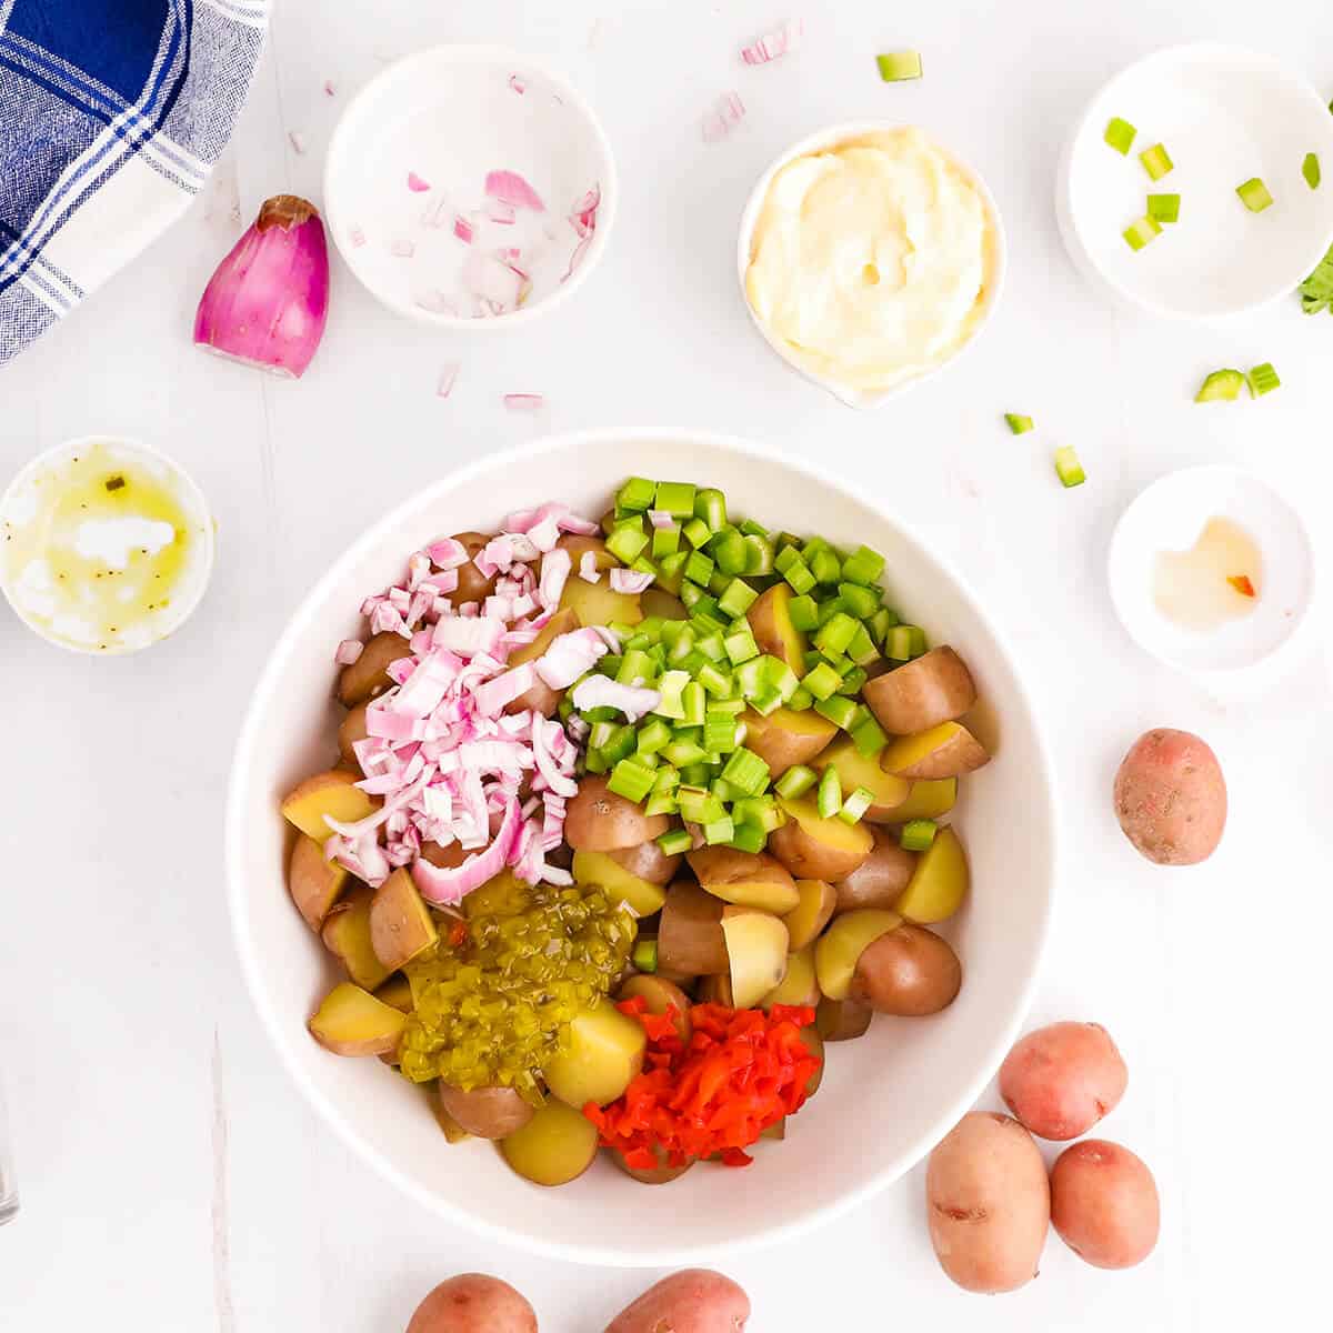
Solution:
<path fill-rule="evenodd" d="M 328 311 L 329 256 L 320 215 L 296 195 L 275 195 L 204 288 L 195 343 L 300 379 L 324 336 Z"/>

